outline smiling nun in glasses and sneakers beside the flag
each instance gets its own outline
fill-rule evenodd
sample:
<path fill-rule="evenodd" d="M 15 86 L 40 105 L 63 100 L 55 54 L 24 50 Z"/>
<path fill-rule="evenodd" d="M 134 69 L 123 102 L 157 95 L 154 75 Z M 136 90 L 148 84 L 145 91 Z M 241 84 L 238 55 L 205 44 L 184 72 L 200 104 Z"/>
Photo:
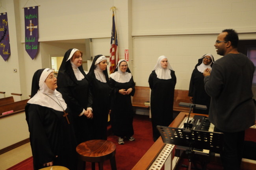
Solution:
<path fill-rule="evenodd" d="M 118 137 L 118 143 L 124 144 L 124 139 L 134 141 L 133 107 L 131 96 L 135 93 L 135 83 L 128 64 L 124 59 L 117 63 L 114 73 L 109 79 L 111 95 L 111 130 Z"/>

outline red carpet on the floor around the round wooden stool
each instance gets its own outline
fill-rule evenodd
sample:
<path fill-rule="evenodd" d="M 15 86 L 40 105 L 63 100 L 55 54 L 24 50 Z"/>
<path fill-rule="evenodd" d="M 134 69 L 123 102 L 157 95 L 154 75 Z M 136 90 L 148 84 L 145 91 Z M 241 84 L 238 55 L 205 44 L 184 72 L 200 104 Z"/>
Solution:
<path fill-rule="evenodd" d="M 154 143 L 152 139 L 152 124 L 148 116 L 135 115 L 134 117 L 134 141 L 124 140 L 123 145 L 119 145 L 117 137 L 109 133 L 108 140 L 116 145 L 116 163 L 118 170 L 131 170 L 141 157 Z M 245 140 L 256 141 L 256 129 L 247 129 L 245 132 Z M 188 165 L 187 159 L 182 159 L 175 170 L 187 170 L 188 168 L 182 167 L 181 164 Z M 192 165 L 193 166 L 193 165 Z M 198 164 L 198 168 L 201 168 Z M 104 162 L 104 169 L 110 170 L 109 161 Z M 163 168 L 162 168 L 163 169 Z M 207 170 L 221 170 L 221 164 L 209 163 Z M 7 170 L 33 170 L 33 158 L 30 157 L 24 161 L 8 168 Z M 91 163 L 86 164 L 86 170 L 91 170 Z M 96 164 L 96 170 L 98 165 Z"/>

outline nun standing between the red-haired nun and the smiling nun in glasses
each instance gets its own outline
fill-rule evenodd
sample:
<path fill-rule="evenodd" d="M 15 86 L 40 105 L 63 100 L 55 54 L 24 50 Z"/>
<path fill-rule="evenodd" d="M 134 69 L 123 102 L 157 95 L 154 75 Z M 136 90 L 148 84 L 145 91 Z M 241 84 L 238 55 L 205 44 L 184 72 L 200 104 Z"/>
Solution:
<path fill-rule="evenodd" d="M 110 108 L 107 58 L 96 55 L 89 70 L 89 86 L 93 96 L 93 139 L 107 140 Z"/>

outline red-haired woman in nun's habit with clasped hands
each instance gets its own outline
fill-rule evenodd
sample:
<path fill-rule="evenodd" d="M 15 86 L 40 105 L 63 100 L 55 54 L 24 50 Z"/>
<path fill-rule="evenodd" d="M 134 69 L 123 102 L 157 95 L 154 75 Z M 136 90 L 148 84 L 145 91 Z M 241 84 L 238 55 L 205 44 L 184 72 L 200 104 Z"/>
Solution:
<path fill-rule="evenodd" d="M 83 53 L 69 49 L 58 72 L 58 91 L 70 108 L 74 118 L 78 144 L 92 139 L 92 96 L 88 78 L 82 67 Z"/>

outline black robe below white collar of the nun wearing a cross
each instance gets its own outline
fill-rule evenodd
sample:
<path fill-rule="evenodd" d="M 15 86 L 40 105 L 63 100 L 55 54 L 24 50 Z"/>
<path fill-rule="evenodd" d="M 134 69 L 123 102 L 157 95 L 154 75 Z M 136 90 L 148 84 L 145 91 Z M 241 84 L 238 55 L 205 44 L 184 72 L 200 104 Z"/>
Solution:
<path fill-rule="evenodd" d="M 67 115 L 70 122 L 68 124 L 63 117 L 64 112 L 29 103 L 25 112 L 30 131 L 34 170 L 45 168 L 43 164 L 51 161 L 54 166 L 65 166 L 75 170 L 77 143 L 71 116 Z"/>

